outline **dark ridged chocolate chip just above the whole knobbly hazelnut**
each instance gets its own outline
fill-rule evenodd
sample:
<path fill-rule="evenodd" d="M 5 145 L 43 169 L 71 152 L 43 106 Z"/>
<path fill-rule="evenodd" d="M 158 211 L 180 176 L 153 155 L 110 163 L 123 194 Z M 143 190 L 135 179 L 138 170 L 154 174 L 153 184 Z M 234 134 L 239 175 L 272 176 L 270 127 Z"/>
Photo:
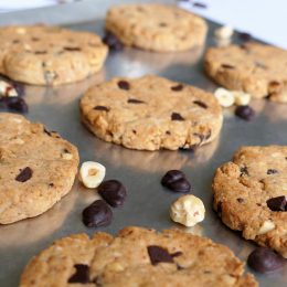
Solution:
<path fill-rule="evenodd" d="M 174 192 L 187 193 L 191 185 L 185 174 L 180 170 L 169 170 L 161 179 L 161 184 Z"/>

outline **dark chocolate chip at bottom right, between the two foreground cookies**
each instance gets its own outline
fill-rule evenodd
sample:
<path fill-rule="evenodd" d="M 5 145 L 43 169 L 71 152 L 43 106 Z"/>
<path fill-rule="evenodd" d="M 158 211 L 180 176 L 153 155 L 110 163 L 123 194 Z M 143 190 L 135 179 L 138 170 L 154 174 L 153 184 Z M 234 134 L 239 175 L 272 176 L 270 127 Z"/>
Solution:
<path fill-rule="evenodd" d="M 266 247 L 256 248 L 247 258 L 249 267 L 259 273 L 276 272 L 283 268 L 285 262 L 280 255 Z"/>

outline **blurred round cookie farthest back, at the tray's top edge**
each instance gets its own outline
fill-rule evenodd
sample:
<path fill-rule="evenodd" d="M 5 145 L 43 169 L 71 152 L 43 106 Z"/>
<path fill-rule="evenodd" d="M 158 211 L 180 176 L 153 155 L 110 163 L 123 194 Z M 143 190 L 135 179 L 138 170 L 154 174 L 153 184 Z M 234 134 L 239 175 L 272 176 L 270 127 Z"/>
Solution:
<path fill-rule="evenodd" d="M 137 3 L 111 7 L 106 31 L 127 46 L 172 52 L 203 45 L 208 25 L 200 17 L 174 6 Z"/>

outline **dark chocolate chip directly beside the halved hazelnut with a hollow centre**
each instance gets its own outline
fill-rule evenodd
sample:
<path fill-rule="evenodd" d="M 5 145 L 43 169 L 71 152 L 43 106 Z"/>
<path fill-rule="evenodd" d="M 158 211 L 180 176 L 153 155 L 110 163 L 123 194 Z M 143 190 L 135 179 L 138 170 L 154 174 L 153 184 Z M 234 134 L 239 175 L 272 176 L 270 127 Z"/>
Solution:
<path fill-rule="evenodd" d="M 113 208 L 123 205 L 127 198 L 127 191 L 121 182 L 118 180 L 106 180 L 103 181 L 97 191 L 99 195 Z"/>

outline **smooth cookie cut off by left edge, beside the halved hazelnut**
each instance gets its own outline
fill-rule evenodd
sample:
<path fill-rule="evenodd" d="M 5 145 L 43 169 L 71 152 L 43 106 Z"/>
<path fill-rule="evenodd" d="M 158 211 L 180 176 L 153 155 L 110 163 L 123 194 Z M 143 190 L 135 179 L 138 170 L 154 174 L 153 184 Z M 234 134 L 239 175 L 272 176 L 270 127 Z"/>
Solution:
<path fill-rule="evenodd" d="M 23 116 L 0 114 L 0 224 L 36 216 L 61 200 L 77 172 L 77 149 Z"/>

